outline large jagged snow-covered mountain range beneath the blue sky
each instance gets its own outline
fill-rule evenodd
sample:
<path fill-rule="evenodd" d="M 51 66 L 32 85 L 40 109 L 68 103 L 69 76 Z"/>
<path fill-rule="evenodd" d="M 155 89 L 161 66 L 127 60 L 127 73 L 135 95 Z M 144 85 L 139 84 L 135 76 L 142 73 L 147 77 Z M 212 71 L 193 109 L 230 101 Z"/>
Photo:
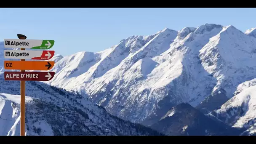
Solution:
<path fill-rule="evenodd" d="M 254 31 L 251 31 L 254 32 Z M 98 53 L 60 59 L 46 82 L 83 96 L 125 120 L 150 125 L 187 102 L 205 113 L 256 77 L 256 37 L 204 24 L 131 36 Z"/>

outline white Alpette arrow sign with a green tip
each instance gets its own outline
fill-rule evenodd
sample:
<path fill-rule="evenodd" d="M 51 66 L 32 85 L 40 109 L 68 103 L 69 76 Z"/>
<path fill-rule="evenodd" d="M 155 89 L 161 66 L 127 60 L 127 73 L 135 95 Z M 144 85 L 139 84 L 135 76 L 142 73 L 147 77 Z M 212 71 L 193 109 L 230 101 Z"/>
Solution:
<path fill-rule="evenodd" d="M 4 44 L 5 48 L 50 49 L 54 45 L 54 40 L 4 39 Z"/>

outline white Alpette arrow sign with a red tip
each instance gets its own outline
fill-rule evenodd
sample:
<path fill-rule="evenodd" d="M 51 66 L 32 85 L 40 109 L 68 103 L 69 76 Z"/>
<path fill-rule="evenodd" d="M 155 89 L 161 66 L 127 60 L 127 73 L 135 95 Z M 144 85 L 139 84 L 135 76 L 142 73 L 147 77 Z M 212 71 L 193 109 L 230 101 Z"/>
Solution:
<path fill-rule="evenodd" d="M 21 50 L 5 50 L 5 59 L 40 59 L 48 60 L 54 55 L 54 51 L 21 51 Z"/>

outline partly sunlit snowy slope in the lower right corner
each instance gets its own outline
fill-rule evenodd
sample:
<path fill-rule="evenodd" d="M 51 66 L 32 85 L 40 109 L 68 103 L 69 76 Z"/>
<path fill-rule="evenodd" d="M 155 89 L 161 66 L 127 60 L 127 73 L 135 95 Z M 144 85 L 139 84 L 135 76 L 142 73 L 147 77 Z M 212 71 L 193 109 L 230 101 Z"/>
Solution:
<path fill-rule="evenodd" d="M 241 92 L 209 115 L 233 127 L 247 128 L 249 135 L 256 134 L 256 85 L 248 87 L 245 82 L 237 91 Z"/>

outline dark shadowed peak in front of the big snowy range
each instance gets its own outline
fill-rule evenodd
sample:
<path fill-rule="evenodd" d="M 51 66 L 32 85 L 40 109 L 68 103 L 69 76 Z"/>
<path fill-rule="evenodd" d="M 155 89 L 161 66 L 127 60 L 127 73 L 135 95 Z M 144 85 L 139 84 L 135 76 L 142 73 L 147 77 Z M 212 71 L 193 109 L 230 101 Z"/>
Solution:
<path fill-rule="evenodd" d="M 173 107 L 150 127 L 166 135 L 186 136 L 239 136 L 244 131 L 211 119 L 187 103 Z"/>

